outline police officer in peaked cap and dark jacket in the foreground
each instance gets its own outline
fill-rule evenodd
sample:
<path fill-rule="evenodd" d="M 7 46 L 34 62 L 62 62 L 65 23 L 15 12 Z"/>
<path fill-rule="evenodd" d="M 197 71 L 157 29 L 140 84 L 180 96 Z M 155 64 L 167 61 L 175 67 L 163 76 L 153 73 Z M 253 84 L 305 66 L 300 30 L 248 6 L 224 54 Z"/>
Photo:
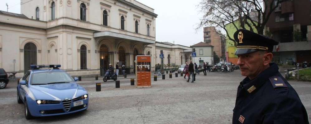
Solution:
<path fill-rule="evenodd" d="M 237 89 L 233 124 L 309 124 L 304 105 L 294 88 L 270 63 L 273 39 L 240 29 L 234 33 L 235 54 L 241 75 L 246 76 Z"/>

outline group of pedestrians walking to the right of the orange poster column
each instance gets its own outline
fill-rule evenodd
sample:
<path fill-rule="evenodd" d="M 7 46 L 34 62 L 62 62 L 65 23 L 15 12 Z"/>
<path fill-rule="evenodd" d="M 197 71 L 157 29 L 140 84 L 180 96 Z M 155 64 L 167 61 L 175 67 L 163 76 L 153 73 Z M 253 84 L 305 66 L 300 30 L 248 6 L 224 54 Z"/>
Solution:
<path fill-rule="evenodd" d="M 209 68 L 208 62 L 206 62 L 206 64 L 205 64 L 205 62 L 203 62 L 203 73 L 204 73 L 204 76 L 206 76 L 206 69 L 208 69 L 208 68 Z M 183 71 L 185 72 L 184 78 L 186 78 L 186 75 L 188 76 L 187 82 L 189 82 L 190 76 L 192 75 L 192 83 L 195 81 L 195 75 L 196 74 L 200 74 L 197 63 L 193 64 L 192 61 L 190 61 L 189 65 L 188 65 L 188 62 L 186 62 L 186 65 L 184 66 L 184 70 Z"/>

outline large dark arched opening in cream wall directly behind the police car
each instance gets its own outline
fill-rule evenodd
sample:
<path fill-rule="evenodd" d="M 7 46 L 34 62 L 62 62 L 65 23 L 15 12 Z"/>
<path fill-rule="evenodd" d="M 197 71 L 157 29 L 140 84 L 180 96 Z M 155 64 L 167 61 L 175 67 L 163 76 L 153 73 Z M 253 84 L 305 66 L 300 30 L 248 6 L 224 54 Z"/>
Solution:
<path fill-rule="evenodd" d="M 34 43 L 26 43 L 24 46 L 24 73 L 30 70 L 30 65 L 37 64 L 37 47 Z"/>

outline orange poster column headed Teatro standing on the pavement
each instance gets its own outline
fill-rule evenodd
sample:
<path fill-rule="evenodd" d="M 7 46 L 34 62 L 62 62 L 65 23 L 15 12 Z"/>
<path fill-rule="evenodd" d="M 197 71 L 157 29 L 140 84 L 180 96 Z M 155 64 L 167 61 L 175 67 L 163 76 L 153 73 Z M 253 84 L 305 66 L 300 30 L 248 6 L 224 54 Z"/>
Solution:
<path fill-rule="evenodd" d="M 151 87 L 151 56 L 136 56 L 136 87 Z"/>

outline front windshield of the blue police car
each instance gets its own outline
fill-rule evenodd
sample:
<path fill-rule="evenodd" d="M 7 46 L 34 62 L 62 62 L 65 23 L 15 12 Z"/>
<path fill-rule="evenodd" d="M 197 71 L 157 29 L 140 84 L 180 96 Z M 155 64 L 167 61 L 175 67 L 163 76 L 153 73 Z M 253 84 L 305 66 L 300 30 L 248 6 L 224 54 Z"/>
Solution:
<path fill-rule="evenodd" d="M 38 72 L 31 76 L 31 85 L 73 82 L 66 72 Z"/>

